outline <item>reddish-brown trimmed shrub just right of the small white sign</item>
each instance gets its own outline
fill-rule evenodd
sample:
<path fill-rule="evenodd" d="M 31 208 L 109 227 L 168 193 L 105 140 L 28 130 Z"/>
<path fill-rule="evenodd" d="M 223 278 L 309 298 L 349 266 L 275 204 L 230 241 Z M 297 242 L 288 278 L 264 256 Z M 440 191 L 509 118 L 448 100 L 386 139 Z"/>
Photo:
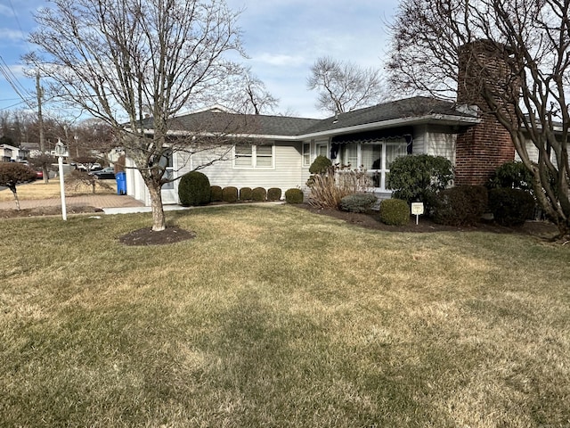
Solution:
<path fill-rule="evenodd" d="M 449 226 L 473 226 L 487 209 L 483 185 L 458 185 L 436 195 L 434 221 Z"/>

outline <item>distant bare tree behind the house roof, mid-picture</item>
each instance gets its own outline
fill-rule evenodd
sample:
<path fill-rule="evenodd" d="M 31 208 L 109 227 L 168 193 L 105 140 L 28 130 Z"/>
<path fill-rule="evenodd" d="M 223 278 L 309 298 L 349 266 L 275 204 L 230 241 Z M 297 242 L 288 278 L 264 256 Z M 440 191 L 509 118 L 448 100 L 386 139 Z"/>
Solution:
<path fill-rule="evenodd" d="M 314 62 L 307 86 L 317 90 L 316 108 L 333 114 L 373 105 L 385 97 L 379 70 L 330 57 Z"/>

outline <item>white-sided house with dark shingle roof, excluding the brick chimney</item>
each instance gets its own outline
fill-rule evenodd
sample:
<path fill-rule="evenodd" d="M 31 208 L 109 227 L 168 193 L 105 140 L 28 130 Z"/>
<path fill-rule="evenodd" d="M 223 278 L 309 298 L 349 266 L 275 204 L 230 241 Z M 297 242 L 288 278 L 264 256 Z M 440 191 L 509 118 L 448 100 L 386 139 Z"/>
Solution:
<path fill-rule="evenodd" d="M 175 118 L 169 128 L 173 136 L 226 133 L 231 149 L 226 159 L 200 169 L 211 185 L 280 187 L 283 193 L 294 187 L 307 191 L 309 167 L 316 156 L 324 155 L 333 163 L 365 169 L 372 178 L 370 190 L 388 198 L 387 173 L 396 157 L 428 153 L 459 165 L 458 136 L 469 136 L 468 130 L 481 123 L 477 111 L 467 106 L 417 96 L 328 119 L 243 115 L 215 108 Z M 232 137 L 249 144 L 232 145 Z M 196 153 L 187 160 L 178 154 L 169 160 L 168 168 L 179 177 L 208 163 L 208 155 L 212 153 Z M 510 160 L 513 158 L 514 148 Z M 128 166 L 133 164 L 127 159 Z M 126 170 L 126 189 L 127 194 L 150 204 L 149 193 L 135 169 Z M 177 203 L 178 181 L 165 185 L 162 195 L 164 203 Z"/>

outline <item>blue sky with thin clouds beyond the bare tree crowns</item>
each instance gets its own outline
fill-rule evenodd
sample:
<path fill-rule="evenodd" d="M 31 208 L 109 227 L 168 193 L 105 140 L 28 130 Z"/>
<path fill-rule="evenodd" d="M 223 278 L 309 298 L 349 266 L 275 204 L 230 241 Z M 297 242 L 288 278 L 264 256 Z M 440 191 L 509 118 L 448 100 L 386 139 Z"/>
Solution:
<path fill-rule="evenodd" d="M 239 25 L 244 63 L 279 99 L 278 112 L 322 118 L 316 92 L 306 79 L 317 58 L 383 68 L 389 44 L 387 23 L 398 0 L 226 0 L 241 10 Z M 0 0 L 0 63 L 10 70 L 20 93 L 33 98 L 35 79 L 24 76 L 21 55 L 35 49 L 26 41 L 34 29 L 33 12 L 49 5 L 45 0 Z M 25 108 L 18 93 L 0 74 L 0 111 Z"/>

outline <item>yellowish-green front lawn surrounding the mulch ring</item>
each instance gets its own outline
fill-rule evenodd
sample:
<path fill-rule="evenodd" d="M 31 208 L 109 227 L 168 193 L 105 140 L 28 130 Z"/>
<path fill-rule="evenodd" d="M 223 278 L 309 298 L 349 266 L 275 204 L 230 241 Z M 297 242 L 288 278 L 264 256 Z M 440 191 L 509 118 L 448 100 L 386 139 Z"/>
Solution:
<path fill-rule="evenodd" d="M 0 426 L 570 424 L 568 245 L 167 216 L 0 222 Z"/>

